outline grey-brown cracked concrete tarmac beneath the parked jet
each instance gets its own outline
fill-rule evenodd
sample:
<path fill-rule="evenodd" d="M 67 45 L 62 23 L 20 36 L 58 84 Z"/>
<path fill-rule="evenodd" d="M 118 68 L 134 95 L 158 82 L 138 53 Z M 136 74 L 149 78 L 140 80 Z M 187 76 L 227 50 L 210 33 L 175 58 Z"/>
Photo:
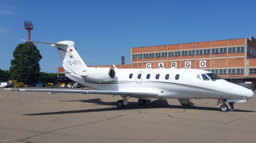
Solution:
<path fill-rule="evenodd" d="M 254 94 L 256 96 L 256 94 Z M 256 143 L 256 97 L 220 112 L 216 100 L 153 100 L 0 88 L 0 143 Z M 229 106 L 230 108 L 230 106 Z"/>

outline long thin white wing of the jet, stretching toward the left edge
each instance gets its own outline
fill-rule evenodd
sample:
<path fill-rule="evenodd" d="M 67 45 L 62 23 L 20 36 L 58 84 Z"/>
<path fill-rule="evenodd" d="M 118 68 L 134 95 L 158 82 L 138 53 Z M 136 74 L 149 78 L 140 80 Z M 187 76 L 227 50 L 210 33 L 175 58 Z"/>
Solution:
<path fill-rule="evenodd" d="M 83 94 L 108 94 L 108 95 L 124 95 L 135 98 L 154 98 L 158 96 L 156 92 L 126 92 L 126 91 L 108 91 L 108 90 L 72 90 L 72 89 L 24 89 L 24 88 L 4 88 L 5 90 L 14 91 L 34 91 L 34 92 L 48 92 L 48 93 L 83 93 Z"/>

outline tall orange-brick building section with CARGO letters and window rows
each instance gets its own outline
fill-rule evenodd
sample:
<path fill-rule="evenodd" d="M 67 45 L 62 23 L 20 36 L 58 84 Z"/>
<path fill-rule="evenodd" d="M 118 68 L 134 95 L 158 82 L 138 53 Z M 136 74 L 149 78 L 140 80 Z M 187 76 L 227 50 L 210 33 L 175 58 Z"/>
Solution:
<path fill-rule="evenodd" d="M 192 68 L 222 78 L 256 78 L 256 39 L 180 43 L 131 50 L 132 68 Z"/>

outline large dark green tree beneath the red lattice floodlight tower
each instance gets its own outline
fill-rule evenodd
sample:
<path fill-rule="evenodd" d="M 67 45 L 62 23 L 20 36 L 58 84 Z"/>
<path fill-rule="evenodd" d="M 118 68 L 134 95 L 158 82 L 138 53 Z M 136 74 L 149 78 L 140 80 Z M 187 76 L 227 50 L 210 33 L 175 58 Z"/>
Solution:
<path fill-rule="evenodd" d="M 32 42 L 20 43 L 13 51 L 14 59 L 11 60 L 10 76 L 13 80 L 32 85 L 39 76 L 39 61 L 42 55 Z"/>

